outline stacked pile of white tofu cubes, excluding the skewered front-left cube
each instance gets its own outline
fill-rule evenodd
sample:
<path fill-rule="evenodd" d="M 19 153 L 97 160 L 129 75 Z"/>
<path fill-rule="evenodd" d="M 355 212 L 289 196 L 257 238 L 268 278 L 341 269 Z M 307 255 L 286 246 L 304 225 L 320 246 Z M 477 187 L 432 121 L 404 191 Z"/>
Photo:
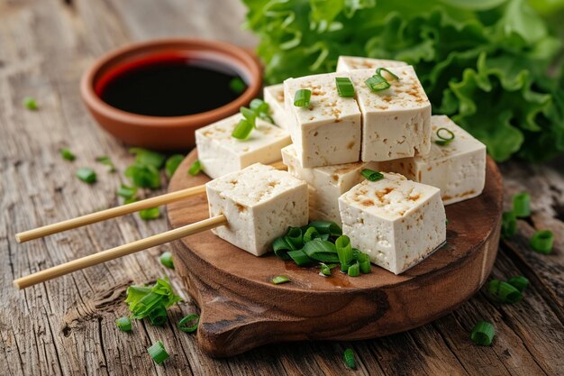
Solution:
<path fill-rule="evenodd" d="M 378 68 L 399 79 L 383 73 L 390 87 L 375 93 L 364 81 Z M 335 78 L 350 78 L 355 96 L 339 96 Z M 308 106 L 293 104 L 299 89 L 311 91 Z M 352 245 L 388 271 L 406 271 L 440 247 L 444 205 L 484 188 L 486 147 L 449 117 L 431 114 L 414 68 L 404 62 L 341 57 L 337 72 L 288 78 L 265 87 L 264 99 L 277 127 L 259 124 L 248 144 L 215 134 L 231 134 L 239 115 L 196 132 L 205 172 L 216 178 L 281 153 L 288 172 L 307 183 L 309 219 L 342 225 Z M 441 128 L 454 134 L 452 142 L 435 142 Z M 384 178 L 368 181 L 360 174 L 365 169 Z"/>

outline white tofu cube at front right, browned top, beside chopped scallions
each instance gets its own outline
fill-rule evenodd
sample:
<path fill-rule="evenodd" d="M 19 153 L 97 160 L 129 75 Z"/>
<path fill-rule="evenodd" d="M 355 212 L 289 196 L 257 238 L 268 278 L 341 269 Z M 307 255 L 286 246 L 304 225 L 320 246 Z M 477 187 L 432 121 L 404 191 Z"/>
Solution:
<path fill-rule="evenodd" d="M 399 274 L 446 240 L 441 192 L 399 174 L 364 180 L 339 198 L 342 232 L 370 261 Z"/>

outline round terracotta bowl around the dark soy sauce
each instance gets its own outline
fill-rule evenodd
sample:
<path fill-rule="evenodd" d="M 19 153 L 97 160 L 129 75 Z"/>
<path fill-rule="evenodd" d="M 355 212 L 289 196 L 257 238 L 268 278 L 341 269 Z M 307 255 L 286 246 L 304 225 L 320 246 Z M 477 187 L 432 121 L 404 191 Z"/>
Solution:
<path fill-rule="evenodd" d="M 163 54 L 182 54 L 220 63 L 237 71 L 248 87 L 227 105 L 196 115 L 172 117 L 125 112 L 108 105 L 96 94 L 96 85 L 114 72 Z M 80 93 L 98 124 L 119 140 L 153 150 L 175 151 L 193 147 L 196 129 L 235 114 L 241 105 L 248 105 L 259 95 L 261 86 L 259 61 L 249 51 L 221 41 L 167 39 L 136 43 L 109 52 L 86 70 L 80 82 Z"/>

